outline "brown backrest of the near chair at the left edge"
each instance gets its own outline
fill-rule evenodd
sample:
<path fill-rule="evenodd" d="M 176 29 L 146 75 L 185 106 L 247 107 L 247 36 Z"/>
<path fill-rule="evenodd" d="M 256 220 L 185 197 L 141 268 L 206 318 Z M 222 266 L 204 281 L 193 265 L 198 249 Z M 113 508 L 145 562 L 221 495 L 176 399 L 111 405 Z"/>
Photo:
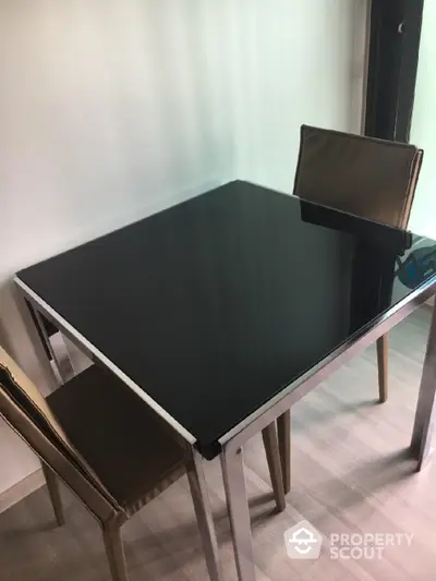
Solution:
<path fill-rule="evenodd" d="M 37 387 L 0 347 L 0 416 L 100 520 L 122 511 L 69 441 Z"/>

